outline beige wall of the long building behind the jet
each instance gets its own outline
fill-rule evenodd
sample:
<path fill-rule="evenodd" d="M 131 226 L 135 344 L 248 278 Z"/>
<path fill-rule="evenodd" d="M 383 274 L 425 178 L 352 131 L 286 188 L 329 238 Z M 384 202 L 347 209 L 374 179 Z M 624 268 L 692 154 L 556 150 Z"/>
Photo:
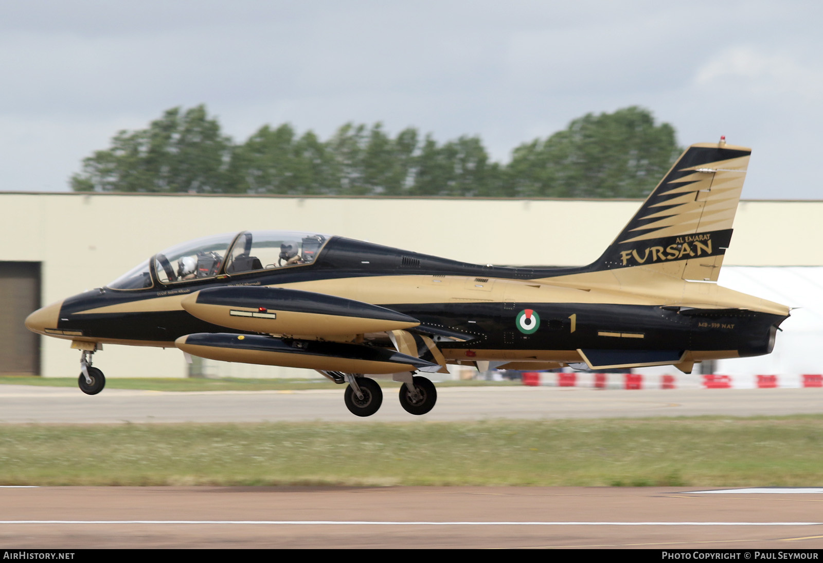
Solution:
<path fill-rule="evenodd" d="M 0 193 L 0 261 L 43 263 L 43 303 L 104 285 L 151 254 L 244 229 L 344 235 L 472 263 L 592 262 L 640 205 L 630 201 L 281 198 L 194 194 Z M 823 201 L 741 202 L 725 264 L 820 266 Z M 43 374 L 75 375 L 79 352 L 43 338 Z M 107 347 L 108 377 L 183 376 L 179 351 Z M 257 366 L 231 375 L 288 375 Z"/>

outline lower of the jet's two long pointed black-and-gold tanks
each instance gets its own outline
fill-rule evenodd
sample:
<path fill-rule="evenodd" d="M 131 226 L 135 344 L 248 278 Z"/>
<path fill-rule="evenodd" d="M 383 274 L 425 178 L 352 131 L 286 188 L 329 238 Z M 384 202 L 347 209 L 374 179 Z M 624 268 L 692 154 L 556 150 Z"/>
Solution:
<path fill-rule="evenodd" d="M 188 354 L 210 360 L 282 365 L 309 370 L 393 374 L 424 368 L 439 369 L 439 365 L 430 361 L 388 348 L 258 334 L 196 333 L 179 337 L 175 344 Z"/>

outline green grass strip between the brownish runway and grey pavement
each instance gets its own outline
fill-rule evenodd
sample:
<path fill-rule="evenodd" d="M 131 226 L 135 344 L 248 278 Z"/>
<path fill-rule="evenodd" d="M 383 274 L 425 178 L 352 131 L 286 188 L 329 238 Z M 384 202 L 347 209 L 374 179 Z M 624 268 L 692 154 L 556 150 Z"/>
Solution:
<path fill-rule="evenodd" d="M 823 416 L 2 426 L 2 485 L 823 486 Z"/>

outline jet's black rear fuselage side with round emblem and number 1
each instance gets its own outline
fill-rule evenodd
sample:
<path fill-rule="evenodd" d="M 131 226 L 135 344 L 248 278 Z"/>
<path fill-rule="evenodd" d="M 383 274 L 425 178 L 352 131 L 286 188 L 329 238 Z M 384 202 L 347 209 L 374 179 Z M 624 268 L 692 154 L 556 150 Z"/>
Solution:
<path fill-rule="evenodd" d="M 637 351 L 643 354 L 636 357 L 652 358 L 648 362 L 638 360 L 638 364 L 666 363 L 669 356 L 677 360 L 686 351 L 733 351 L 734 356 L 756 356 L 770 352 L 774 331 L 784 319 L 751 311 L 683 315 L 638 305 L 519 303 L 457 308 L 444 304 L 413 311 L 404 310 L 402 305 L 393 307 L 414 314 L 423 327 L 436 324 L 476 333 L 477 337 L 467 342 L 441 345 L 451 360 L 525 357 L 565 361 L 567 357 L 579 358 L 579 350 Z M 667 352 L 668 356 L 652 354 L 656 351 Z M 674 360 L 670 363 L 677 363 Z"/>

